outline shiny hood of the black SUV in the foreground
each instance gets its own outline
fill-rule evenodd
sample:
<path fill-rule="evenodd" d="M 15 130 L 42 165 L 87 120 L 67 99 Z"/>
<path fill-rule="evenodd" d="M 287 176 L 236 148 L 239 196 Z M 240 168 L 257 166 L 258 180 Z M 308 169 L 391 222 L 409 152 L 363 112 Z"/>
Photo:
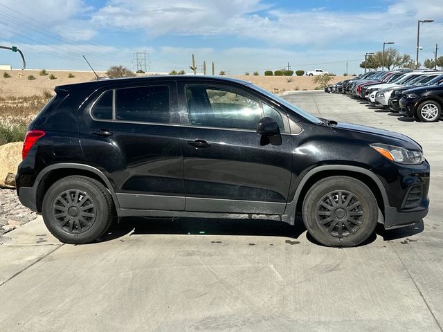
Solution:
<path fill-rule="evenodd" d="M 332 128 L 340 131 L 348 131 L 350 133 L 350 137 L 360 140 L 364 139 L 368 142 L 368 144 L 383 143 L 404 147 L 410 150 L 422 150 L 422 147 L 412 138 L 409 138 L 401 133 L 388 131 L 386 129 L 367 127 L 361 124 L 352 124 L 347 122 L 338 122 L 336 126 Z"/>

